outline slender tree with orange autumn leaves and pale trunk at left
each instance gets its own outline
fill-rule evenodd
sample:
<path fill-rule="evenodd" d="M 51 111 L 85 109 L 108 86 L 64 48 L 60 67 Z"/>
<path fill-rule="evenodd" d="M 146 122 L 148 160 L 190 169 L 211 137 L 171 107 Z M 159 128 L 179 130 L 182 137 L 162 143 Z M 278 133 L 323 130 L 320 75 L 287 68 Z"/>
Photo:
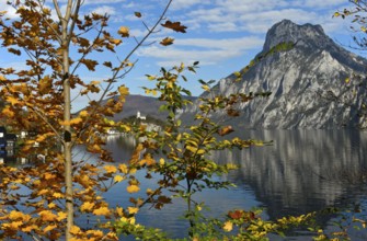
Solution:
<path fill-rule="evenodd" d="M 80 15 L 81 0 L 8 1 L 16 10 L 18 18 L 7 19 L 0 12 L 0 39 L 2 47 L 19 56 L 26 68 L 0 68 L 1 97 L 7 102 L 2 115 L 7 125 L 14 130 L 35 131 L 33 139 L 26 140 L 20 154 L 32 157 L 43 154 L 45 160 L 32 167 L 10 168 L 1 165 L 1 237 L 19 237 L 20 232 L 38 237 L 59 239 L 72 237 L 93 239 L 117 239 L 115 232 L 87 230 L 76 226 L 76 208 L 95 216 L 123 217 L 129 215 L 122 208 L 108 207 L 100 194 L 114 183 L 123 181 L 130 170 L 122 164 L 121 175 L 115 175 L 111 153 L 103 149 L 101 135 L 116 124 L 105 117 L 122 111 L 128 88 L 118 81 L 131 68 L 133 54 L 144 45 L 157 27 L 185 32 L 179 22 L 165 19 L 171 4 L 168 1 L 162 14 L 153 24 L 144 23 L 147 35 L 135 38 L 136 46 L 126 56 L 115 61 L 99 62 L 92 58 L 99 53 L 113 51 L 117 55 L 124 38 L 129 37 L 129 28 L 121 26 L 117 33 L 110 33 L 108 15 L 90 13 Z M 64 4 L 64 5 L 61 5 Z M 48 7 L 51 5 L 51 7 Z M 135 12 L 136 18 L 141 18 Z M 163 22 L 164 20 L 164 22 Z M 93 36 L 94 35 L 94 36 Z M 93 37 L 91 37 L 93 36 Z M 162 45 L 170 45 L 173 38 L 163 38 Z M 80 69 L 95 71 L 104 67 L 110 77 L 102 81 L 88 82 L 80 76 Z M 71 114 L 77 96 L 100 93 L 98 100 L 90 99 L 88 107 L 78 115 Z M 102 100 L 110 99 L 106 103 Z M 119 126 L 129 130 L 128 126 Z M 98 156 L 96 163 L 76 160 L 73 148 L 84 145 L 87 150 Z M 26 188 L 21 194 L 20 188 Z M 134 185 L 129 187 L 134 191 Z M 128 190 L 128 191 L 129 191 Z M 20 208 L 22 206 L 23 208 Z M 5 208 L 4 208 L 5 207 Z M 26 211 L 28 210 L 30 211 Z M 130 213 L 134 214 L 134 210 Z"/>

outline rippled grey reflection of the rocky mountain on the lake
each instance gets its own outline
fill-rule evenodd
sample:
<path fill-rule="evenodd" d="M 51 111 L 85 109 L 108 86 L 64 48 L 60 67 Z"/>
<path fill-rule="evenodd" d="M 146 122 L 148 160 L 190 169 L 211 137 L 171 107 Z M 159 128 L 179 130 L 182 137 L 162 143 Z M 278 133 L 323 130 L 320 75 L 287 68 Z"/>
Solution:
<path fill-rule="evenodd" d="M 367 133 L 354 130 L 262 130 L 248 138 L 273 146 L 214 153 L 218 162 L 241 165 L 229 180 L 250 185 L 271 219 L 326 206 L 343 206 L 364 192 Z"/>

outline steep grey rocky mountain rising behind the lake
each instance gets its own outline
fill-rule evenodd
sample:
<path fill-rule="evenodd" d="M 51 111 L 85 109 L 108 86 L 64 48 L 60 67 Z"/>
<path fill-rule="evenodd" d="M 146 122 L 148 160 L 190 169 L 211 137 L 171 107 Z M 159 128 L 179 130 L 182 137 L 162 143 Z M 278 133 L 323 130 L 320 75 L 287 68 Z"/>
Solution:
<path fill-rule="evenodd" d="M 268 54 L 282 43 L 294 46 Z M 320 25 L 297 25 L 289 20 L 276 23 L 255 59 L 259 61 L 241 81 L 234 81 L 236 74 L 230 74 L 211 89 L 215 94 L 226 96 L 238 91 L 272 92 L 268 97 L 240 104 L 241 116 L 231 124 L 245 128 L 339 128 L 360 124 L 358 110 L 366 101 L 366 93 L 359 88 L 352 104 L 343 101 L 351 97 L 354 84 L 353 80 L 348 83 L 345 80 L 366 72 L 367 60 L 335 44 Z M 193 116 L 198 104 L 187 108 L 182 118 Z M 211 117 L 223 115 L 216 113 Z"/>

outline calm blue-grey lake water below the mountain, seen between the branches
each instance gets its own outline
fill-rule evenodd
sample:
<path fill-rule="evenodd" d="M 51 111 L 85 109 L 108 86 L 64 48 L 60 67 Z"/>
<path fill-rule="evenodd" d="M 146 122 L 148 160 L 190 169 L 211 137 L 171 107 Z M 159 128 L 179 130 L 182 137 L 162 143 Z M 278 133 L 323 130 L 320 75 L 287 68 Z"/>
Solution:
<path fill-rule="evenodd" d="M 363 180 L 362 174 L 367 172 L 367 131 L 243 130 L 241 137 L 274 142 L 272 146 L 213 153 L 218 163 L 234 163 L 241 168 L 221 177 L 233 182 L 237 187 L 195 195 L 197 202 L 209 206 L 210 216 L 218 217 L 233 208 L 262 207 L 264 218 L 275 220 L 326 207 L 348 208 L 351 204 L 358 204 L 366 211 L 367 180 L 366 175 Z M 107 141 L 108 149 L 121 162 L 129 159 L 134 145 L 135 140 L 126 137 L 111 137 Z M 152 186 L 144 180 L 141 176 L 141 190 Z M 122 188 L 123 185 L 113 188 L 105 195 L 106 199 L 113 204 L 127 204 L 128 196 Z M 180 219 L 185 204 L 174 200 L 162 210 L 145 208 L 138 219 L 144 225 L 169 231 L 173 238 L 185 237 L 187 221 Z M 366 213 L 362 215 L 366 216 Z M 330 223 L 334 218 L 325 216 L 319 221 L 332 230 Z M 299 237 L 305 233 L 289 234 Z M 353 240 L 367 240 L 366 234 L 353 236 Z"/>

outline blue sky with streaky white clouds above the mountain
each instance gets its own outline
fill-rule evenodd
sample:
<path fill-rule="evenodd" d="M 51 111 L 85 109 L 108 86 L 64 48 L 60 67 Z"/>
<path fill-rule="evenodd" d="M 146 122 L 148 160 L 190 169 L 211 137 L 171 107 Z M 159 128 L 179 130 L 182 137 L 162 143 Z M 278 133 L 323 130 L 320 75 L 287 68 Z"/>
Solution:
<path fill-rule="evenodd" d="M 59 0 L 65 9 L 67 0 Z M 128 26 L 130 37 L 124 38 L 116 54 L 105 53 L 99 60 L 124 58 L 135 46 L 135 38 L 141 39 L 147 33 L 145 25 L 151 26 L 160 16 L 168 0 L 84 0 L 81 14 L 98 12 L 111 15 L 108 31 L 117 35 L 121 26 Z M 46 0 L 51 7 L 51 0 Z M 173 0 L 165 18 L 187 26 L 186 33 L 174 33 L 161 28 L 130 58 L 137 61 L 133 71 L 121 83 L 127 85 L 131 94 L 144 94 L 141 87 L 151 87 L 146 74 L 159 74 L 161 67 L 171 68 L 184 62 L 199 61 L 196 74 L 187 73 L 183 85 L 199 95 L 203 90 L 198 79 L 220 80 L 238 71 L 261 51 L 266 32 L 275 23 L 288 19 L 297 24 L 320 24 L 325 33 L 346 48 L 353 44 L 349 30 L 352 19 L 333 18 L 335 11 L 352 8 L 348 0 Z M 10 18 L 14 11 L 0 0 L 0 10 L 8 10 Z M 140 12 L 142 18 L 136 18 Z M 174 44 L 161 46 L 164 37 L 173 37 Z M 0 51 L 0 65 L 22 67 L 22 60 Z M 359 54 L 359 53 L 358 53 Z M 81 70 L 80 76 L 89 81 L 107 77 L 106 70 L 89 72 Z M 87 103 L 76 101 L 74 108 Z"/>

